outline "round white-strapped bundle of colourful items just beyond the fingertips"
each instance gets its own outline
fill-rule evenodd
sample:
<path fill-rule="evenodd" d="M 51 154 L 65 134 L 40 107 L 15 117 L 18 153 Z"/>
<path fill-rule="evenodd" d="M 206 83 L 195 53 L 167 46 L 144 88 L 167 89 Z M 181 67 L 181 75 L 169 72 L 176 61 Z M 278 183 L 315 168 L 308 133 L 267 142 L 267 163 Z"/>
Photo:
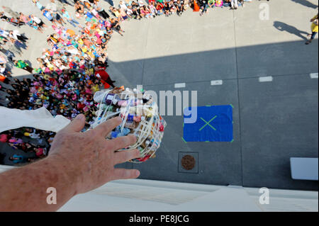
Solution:
<path fill-rule="evenodd" d="M 91 124 L 95 128 L 110 118 L 120 116 L 122 123 L 106 136 L 106 139 L 134 134 L 137 141 L 125 149 L 138 149 L 140 158 L 130 162 L 145 162 L 155 157 L 166 127 L 165 120 L 158 113 L 158 106 L 147 91 L 136 89 L 114 88 L 97 91 L 94 101 L 98 104 L 96 118 Z"/>

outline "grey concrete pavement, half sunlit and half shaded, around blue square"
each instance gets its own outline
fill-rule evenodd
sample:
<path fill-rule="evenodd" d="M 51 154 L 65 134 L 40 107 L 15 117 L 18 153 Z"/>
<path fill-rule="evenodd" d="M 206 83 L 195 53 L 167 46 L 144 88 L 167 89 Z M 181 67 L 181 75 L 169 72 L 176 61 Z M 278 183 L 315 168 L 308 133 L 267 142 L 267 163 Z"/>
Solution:
<path fill-rule="evenodd" d="M 269 20 L 262 21 L 265 3 Z M 318 190 L 317 182 L 292 180 L 289 164 L 318 157 L 318 79 L 310 77 L 318 73 L 318 39 L 304 45 L 315 4 L 253 1 L 237 11 L 125 21 L 125 35 L 114 35 L 108 49 L 118 84 L 142 84 L 158 96 L 193 90 L 198 106 L 234 106 L 233 142 L 185 143 L 183 118 L 166 116 L 157 157 L 127 167 L 142 179 Z M 222 85 L 212 86 L 216 80 Z M 198 157 L 198 173 L 179 171 L 181 152 Z"/>

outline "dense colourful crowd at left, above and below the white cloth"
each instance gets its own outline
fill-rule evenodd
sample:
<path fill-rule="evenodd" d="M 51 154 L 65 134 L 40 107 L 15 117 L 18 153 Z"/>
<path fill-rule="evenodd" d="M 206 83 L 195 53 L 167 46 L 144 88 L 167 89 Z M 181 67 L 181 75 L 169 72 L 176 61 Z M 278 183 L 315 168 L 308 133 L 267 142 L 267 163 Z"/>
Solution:
<path fill-rule="evenodd" d="M 106 49 L 113 33 L 111 28 L 119 26 L 119 22 L 116 18 L 106 21 L 98 18 L 98 15 L 91 16 L 90 9 L 83 15 L 86 23 L 81 26 L 72 18 L 72 13 L 69 13 L 63 4 L 62 7 L 57 7 L 59 6 L 57 1 L 51 0 L 47 7 L 40 5 L 37 0 L 33 0 L 33 3 L 40 9 L 43 16 L 52 22 L 54 33 L 47 37 L 48 48 L 43 50 L 43 54 L 37 59 L 39 67 L 33 69 L 25 60 L 13 59 L 20 55 L 20 52 L 15 51 L 16 54 L 14 54 L 6 48 L 10 38 L 21 43 L 26 43 L 28 38 L 20 35 L 18 30 L 14 30 L 11 34 L 11 31 L 1 29 L 1 42 L 3 42 L 1 52 L 4 53 L 4 56 L 0 58 L 1 67 L 6 68 L 6 64 L 11 63 L 33 74 L 30 79 L 20 80 L 13 79 L 7 68 L 6 71 L 1 71 L 0 90 L 4 92 L 4 95 L 1 95 L 1 106 L 21 110 L 33 110 L 44 106 L 52 115 L 64 115 L 69 119 L 84 113 L 87 117 L 86 121 L 91 122 L 96 107 L 93 101 L 94 93 L 101 86 L 114 87 L 115 81 L 111 80 L 106 72 L 108 67 Z M 103 14 L 101 10 L 99 13 Z M 79 28 L 79 33 L 76 34 L 74 30 L 65 28 L 65 21 Z M 115 29 L 121 33 L 121 29 Z M 86 128 L 88 127 L 89 123 L 86 125 Z M 23 132 L 30 129 L 20 128 L 2 132 L 0 140 L 13 149 L 35 152 L 35 157 L 44 157 L 50 149 L 50 140 L 54 133 L 38 130 Z M 26 141 L 27 135 L 35 140 Z M 46 145 L 34 145 L 34 143 L 43 143 L 43 140 Z M 9 159 L 13 163 L 33 161 L 17 154 Z"/>

